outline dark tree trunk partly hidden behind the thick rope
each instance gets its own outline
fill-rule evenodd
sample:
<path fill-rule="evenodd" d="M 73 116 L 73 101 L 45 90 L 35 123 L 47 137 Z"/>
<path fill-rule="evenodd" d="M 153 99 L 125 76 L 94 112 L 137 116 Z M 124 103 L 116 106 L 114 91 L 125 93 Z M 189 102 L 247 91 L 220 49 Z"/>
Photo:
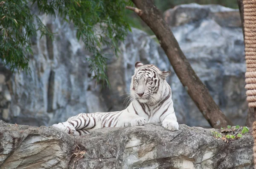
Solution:
<path fill-rule="evenodd" d="M 239 7 L 241 23 L 242 23 L 242 28 L 243 28 L 243 34 L 244 34 L 244 4 L 243 4 L 243 0 L 237 0 L 237 4 Z M 249 107 L 248 112 L 247 112 L 246 123 L 245 123 L 245 125 L 247 127 L 253 126 L 253 121 L 256 121 L 255 115 L 256 115 L 256 108 Z"/>

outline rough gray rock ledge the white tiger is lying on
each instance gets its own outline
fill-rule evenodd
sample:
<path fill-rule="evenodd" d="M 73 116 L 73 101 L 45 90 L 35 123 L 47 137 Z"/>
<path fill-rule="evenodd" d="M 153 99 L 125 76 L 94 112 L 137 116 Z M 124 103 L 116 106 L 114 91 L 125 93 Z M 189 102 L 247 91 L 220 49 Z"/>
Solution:
<path fill-rule="evenodd" d="M 1 169 L 252 169 L 253 137 L 231 143 L 211 130 L 157 124 L 104 128 L 73 137 L 55 127 L 0 121 Z M 251 130 L 251 129 L 250 129 Z"/>

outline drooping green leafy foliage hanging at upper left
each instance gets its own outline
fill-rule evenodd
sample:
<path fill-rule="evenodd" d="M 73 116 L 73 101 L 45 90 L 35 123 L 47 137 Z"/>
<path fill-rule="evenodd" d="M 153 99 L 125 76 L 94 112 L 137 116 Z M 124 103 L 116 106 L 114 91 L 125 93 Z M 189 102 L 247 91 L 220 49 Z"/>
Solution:
<path fill-rule="evenodd" d="M 76 37 L 81 39 L 92 57 L 87 59 L 91 71 L 99 80 L 107 80 L 106 57 L 102 45 L 109 45 L 118 55 L 117 42 L 123 40 L 130 29 L 125 21 L 125 0 L 5 0 L 0 2 L 0 59 L 11 70 L 29 70 L 28 55 L 33 54 L 30 39 L 36 31 L 53 38 L 53 33 L 31 13 L 30 7 L 51 16 L 59 16 L 73 23 Z M 101 33 L 96 30 L 98 24 Z M 108 81 L 107 81 L 108 84 Z"/>

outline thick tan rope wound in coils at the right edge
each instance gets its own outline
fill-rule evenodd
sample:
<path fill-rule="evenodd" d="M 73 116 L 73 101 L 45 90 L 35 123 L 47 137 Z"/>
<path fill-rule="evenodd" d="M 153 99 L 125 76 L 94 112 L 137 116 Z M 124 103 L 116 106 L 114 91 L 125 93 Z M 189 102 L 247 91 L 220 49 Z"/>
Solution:
<path fill-rule="evenodd" d="M 245 88 L 249 107 L 256 108 L 256 0 L 244 3 Z M 253 122 L 253 157 L 256 168 L 256 121 Z"/>

